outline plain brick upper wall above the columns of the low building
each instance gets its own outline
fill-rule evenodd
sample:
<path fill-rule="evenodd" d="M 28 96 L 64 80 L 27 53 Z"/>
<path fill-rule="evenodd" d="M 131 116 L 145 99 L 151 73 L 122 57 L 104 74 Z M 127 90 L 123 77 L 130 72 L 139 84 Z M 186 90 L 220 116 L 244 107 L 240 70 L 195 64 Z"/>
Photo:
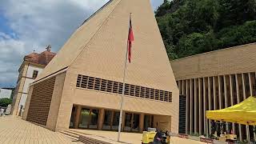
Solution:
<path fill-rule="evenodd" d="M 176 80 L 256 70 L 256 43 L 198 54 L 171 62 Z"/>

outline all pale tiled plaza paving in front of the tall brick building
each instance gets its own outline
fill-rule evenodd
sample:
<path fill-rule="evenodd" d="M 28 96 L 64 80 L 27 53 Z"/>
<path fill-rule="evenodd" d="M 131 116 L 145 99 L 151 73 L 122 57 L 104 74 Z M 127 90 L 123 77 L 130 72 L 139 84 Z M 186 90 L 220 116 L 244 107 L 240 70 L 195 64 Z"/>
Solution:
<path fill-rule="evenodd" d="M 117 132 L 101 130 L 72 130 L 89 138 L 96 138 L 110 143 L 116 142 Z M 122 142 L 140 144 L 142 134 L 122 133 Z M 59 132 L 47 130 L 42 126 L 35 125 L 14 116 L 0 117 L 0 143 L 1 144 L 78 144 L 73 138 Z M 192 141 L 184 138 L 171 138 L 172 144 L 198 144 L 203 142 Z"/>

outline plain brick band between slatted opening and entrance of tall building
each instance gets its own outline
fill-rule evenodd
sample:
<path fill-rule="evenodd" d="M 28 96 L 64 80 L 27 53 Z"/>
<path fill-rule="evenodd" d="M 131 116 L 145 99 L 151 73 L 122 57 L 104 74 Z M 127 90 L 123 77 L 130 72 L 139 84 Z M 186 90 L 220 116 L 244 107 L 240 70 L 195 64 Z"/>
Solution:
<path fill-rule="evenodd" d="M 121 94 L 75 89 L 73 102 L 77 105 L 119 110 Z M 159 102 L 146 98 L 125 96 L 123 110 L 143 114 L 171 115 L 173 106 L 172 102 Z"/>

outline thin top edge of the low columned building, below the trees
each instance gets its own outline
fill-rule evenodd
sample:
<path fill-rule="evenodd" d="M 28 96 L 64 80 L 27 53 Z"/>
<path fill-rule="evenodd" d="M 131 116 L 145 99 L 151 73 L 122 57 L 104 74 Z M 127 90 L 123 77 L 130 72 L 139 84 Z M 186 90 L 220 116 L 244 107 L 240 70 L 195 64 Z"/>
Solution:
<path fill-rule="evenodd" d="M 184 58 L 178 58 L 178 59 L 170 60 L 170 62 L 176 62 L 176 61 L 180 61 L 180 60 L 183 60 L 183 59 L 186 59 L 186 58 L 193 58 L 193 57 L 198 57 L 198 56 L 205 55 L 205 54 L 216 53 L 218 51 L 238 49 L 238 48 L 242 48 L 243 46 L 250 46 L 250 45 L 256 45 L 256 42 L 247 43 L 247 44 L 239 45 L 239 46 L 231 46 L 231 47 L 227 47 L 227 48 L 220 49 L 220 50 L 208 51 L 208 52 L 202 53 L 202 54 L 194 54 L 194 55 L 190 55 L 190 56 L 187 56 L 187 57 L 184 57 Z"/>

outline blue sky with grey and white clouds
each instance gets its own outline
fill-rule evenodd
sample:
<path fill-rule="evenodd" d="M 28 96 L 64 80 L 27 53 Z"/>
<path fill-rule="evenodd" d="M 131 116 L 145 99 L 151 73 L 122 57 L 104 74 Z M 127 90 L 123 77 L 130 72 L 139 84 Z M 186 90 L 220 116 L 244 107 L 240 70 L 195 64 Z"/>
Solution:
<path fill-rule="evenodd" d="M 82 22 L 108 0 L 0 1 L 0 87 L 16 86 L 26 54 L 64 45 Z M 156 10 L 163 0 L 151 0 Z"/>

